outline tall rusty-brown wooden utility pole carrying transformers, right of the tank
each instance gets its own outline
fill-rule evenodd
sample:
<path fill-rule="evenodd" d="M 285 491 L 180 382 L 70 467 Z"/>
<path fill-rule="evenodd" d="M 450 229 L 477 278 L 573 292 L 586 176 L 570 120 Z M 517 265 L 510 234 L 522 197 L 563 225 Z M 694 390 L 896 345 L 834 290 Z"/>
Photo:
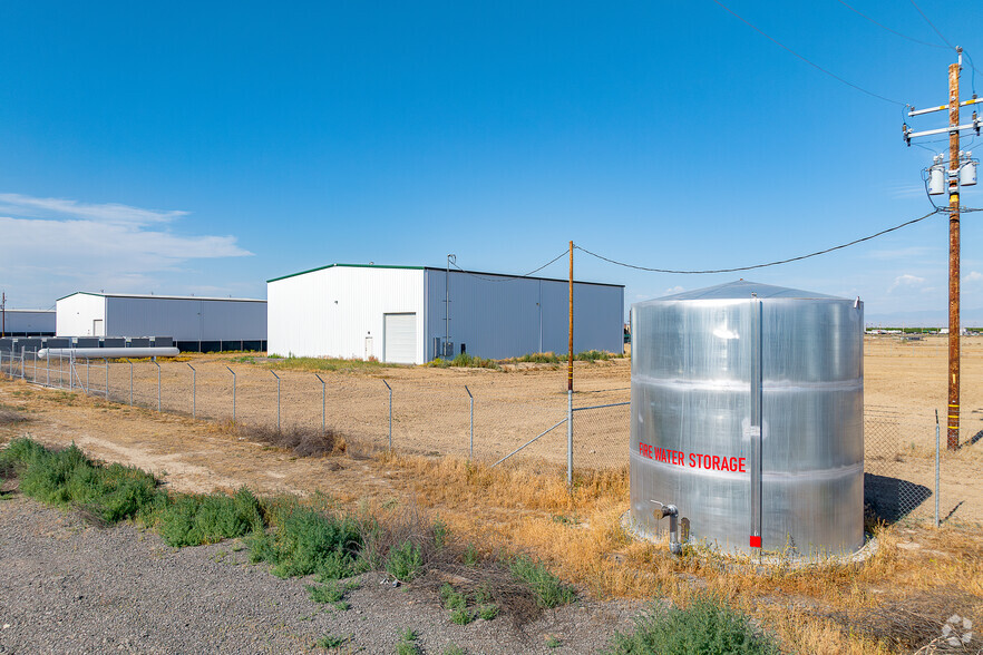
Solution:
<path fill-rule="evenodd" d="M 962 57 L 960 57 L 962 59 Z M 960 448 L 960 65 L 948 66 L 948 450 Z"/>

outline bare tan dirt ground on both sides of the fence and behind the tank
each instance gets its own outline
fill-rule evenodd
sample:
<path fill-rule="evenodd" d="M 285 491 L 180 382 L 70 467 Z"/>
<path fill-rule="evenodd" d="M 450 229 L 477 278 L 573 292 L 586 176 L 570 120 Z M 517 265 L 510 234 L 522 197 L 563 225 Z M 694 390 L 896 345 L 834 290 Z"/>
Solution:
<path fill-rule="evenodd" d="M 867 338 L 865 344 L 866 470 L 909 481 L 919 493 L 919 505 L 913 512 L 918 518 L 934 515 L 935 509 L 934 499 L 925 490 L 935 485 L 935 411 L 940 410 L 940 511 L 952 520 L 983 521 L 983 492 L 975 483 L 976 471 L 983 465 L 983 444 L 977 444 L 983 440 L 983 338 L 965 338 L 962 342 L 962 441 L 969 446 L 958 452 L 945 451 L 946 339 L 903 341 L 877 336 Z M 276 423 L 276 378 L 270 370 L 262 363 L 239 361 L 241 355 L 234 354 L 188 359 L 160 363 L 160 407 L 171 416 L 145 411 L 157 407 L 157 369 L 150 362 L 133 365 L 133 409 L 128 405 L 130 366 L 123 362 L 109 364 L 108 371 L 109 397 L 117 403 L 89 407 L 77 400 L 72 401 L 72 411 L 66 412 L 60 409 L 68 402 L 61 392 L 25 387 L 18 393 L 29 394 L 32 410 L 43 414 L 43 420 L 31 428 L 39 436 L 74 433 L 80 444 L 95 449 L 99 457 L 132 461 L 143 458 L 146 461 L 140 466 L 181 472 L 182 480 L 193 481 L 198 489 L 235 486 L 242 480 L 236 472 L 250 471 L 251 460 L 260 478 L 250 478 L 250 483 L 288 490 L 283 485 L 290 480 L 292 490 L 318 488 L 323 476 L 314 475 L 306 481 L 310 465 L 282 453 L 257 454 L 251 446 L 240 453 L 230 443 L 234 438 L 214 428 L 214 420 L 231 420 L 233 416 L 233 375 L 228 369 L 235 371 L 236 420 Z M 194 387 L 188 364 L 196 371 Z M 91 370 L 79 369 L 75 383 L 88 383 L 94 394 L 105 393 L 106 373 L 100 364 Z M 401 453 L 466 457 L 470 440 L 468 390 L 474 395 L 474 457 L 478 460 L 498 460 L 566 416 L 563 364 L 515 364 L 504 371 L 427 366 L 323 371 L 319 373 L 324 381 L 323 404 L 322 384 L 313 372 L 280 370 L 276 374 L 281 378 L 282 426 L 320 428 L 323 411 L 329 429 L 374 448 L 388 446 L 389 391 L 385 380 L 392 388 L 392 448 Z M 53 379 L 56 373 L 28 368 L 27 377 Z M 626 402 L 630 378 L 627 359 L 577 362 L 574 407 Z M 4 402 L 2 395 L 0 402 Z M 185 420 L 193 412 L 211 420 Z M 106 421 L 103 414 L 114 420 Z M 629 431 L 627 407 L 576 412 L 575 466 L 623 467 Z M 194 443 L 185 446 L 188 440 Z M 267 457 L 281 459 L 275 469 L 265 470 L 262 462 Z M 205 467 L 199 463 L 203 461 L 216 466 Z M 565 427 L 547 433 L 512 461 L 565 466 Z M 376 483 L 378 476 L 364 470 L 368 465 L 342 466 L 345 470 L 353 466 L 359 471 L 357 478 L 364 476 L 367 483 Z M 343 479 L 345 475 L 339 472 L 332 478 Z M 345 487 L 350 488 L 347 481 Z"/>

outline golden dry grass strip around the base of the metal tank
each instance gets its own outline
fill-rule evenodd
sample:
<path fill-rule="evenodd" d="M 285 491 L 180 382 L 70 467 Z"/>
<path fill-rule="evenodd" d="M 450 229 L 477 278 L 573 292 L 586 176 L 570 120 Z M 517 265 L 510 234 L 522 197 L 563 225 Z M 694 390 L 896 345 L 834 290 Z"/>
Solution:
<path fill-rule="evenodd" d="M 492 469 L 389 453 L 381 459 L 420 502 L 486 554 L 534 554 L 598 597 L 662 596 L 685 604 L 695 590 L 710 590 L 795 652 L 888 653 L 927 644 L 946 617 L 973 616 L 983 604 L 983 540 L 974 531 L 915 532 L 882 525 L 878 551 L 863 565 L 828 560 L 805 569 L 763 568 L 699 550 L 672 557 L 666 544 L 635 541 L 622 530 L 626 470 L 577 477 L 571 493 L 559 470 Z M 913 598 L 934 605 L 915 609 L 907 605 Z M 898 615 L 895 623 L 884 623 L 892 607 L 927 618 L 918 624 L 914 614 Z M 858 629 L 850 629 L 853 622 Z"/>

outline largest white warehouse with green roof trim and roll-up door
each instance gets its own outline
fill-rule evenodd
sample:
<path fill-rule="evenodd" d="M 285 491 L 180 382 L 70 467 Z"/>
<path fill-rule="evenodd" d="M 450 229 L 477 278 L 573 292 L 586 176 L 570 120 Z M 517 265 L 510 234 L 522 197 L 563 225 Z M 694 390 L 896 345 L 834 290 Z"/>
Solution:
<path fill-rule="evenodd" d="M 269 351 L 281 355 L 421 364 L 567 352 L 565 280 L 330 264 L 269 280 L 266 299 Z M 621 353 L 623 324 L 623 285 L 574 282 L 575 352 Z"/>

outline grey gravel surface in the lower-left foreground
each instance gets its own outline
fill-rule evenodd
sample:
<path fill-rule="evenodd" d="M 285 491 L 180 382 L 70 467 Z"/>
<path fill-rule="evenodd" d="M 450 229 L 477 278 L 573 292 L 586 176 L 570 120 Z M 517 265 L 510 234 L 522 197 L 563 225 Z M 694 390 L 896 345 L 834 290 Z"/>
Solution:
<path fill-rule="evenodd" d="M 251 565 L 239 540 L 171 548 L 153 531 L 88 525 L 20 496 L 0 499 L 0 654 L 298 653 L 328 635 L 340 653 L 395 653 L 407 629 L 421 653 L 596 653 L 639 610 L 577 604 L 518 627 L 506 616 L 459 626 L 432 589 L 360 576 L 347 610 L 313 603 L 309 579 Z M 551 648 L 555 636 L 561 646 Z"/>

